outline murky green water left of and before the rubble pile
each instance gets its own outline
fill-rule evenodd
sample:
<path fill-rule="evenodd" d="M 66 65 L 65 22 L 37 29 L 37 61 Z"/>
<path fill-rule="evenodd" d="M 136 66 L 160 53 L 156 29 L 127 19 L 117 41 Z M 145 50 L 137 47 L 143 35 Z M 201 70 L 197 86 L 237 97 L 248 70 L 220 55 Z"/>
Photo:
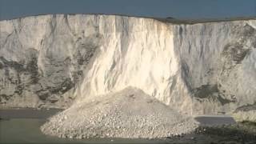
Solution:
<path fill-rule="evenodd" d="M 37 118 L 13 118 L 0 121 L 0 143 L 165 143 L 160 140 L 94 138 L 76 140 L 42 134 L 39 127 L 46 122 Z"/>

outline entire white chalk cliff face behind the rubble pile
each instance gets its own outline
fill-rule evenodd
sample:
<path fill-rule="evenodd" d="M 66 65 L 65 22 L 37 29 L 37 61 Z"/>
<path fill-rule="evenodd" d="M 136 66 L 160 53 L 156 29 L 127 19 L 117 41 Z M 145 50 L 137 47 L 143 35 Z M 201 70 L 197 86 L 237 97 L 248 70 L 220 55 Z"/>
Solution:
<path fill-rule="evenodd" d="M 133 86 L 187 114 L 256 103 L 256 20 L 114 15 L 0 22 L 2 106 L 70 106 Z M 75 100 L 74 100 L 75 99 Z"/>

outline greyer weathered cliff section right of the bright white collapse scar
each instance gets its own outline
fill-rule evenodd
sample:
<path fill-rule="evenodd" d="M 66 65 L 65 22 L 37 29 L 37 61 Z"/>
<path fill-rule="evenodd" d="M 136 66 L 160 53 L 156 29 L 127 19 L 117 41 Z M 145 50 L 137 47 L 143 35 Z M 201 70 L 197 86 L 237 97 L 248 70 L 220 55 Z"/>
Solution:
<path fill-rule="evenodd" d="M 174 46 L 193 112 L 232 112 L 255 105 L 256 21 L 176 26 Z"/>

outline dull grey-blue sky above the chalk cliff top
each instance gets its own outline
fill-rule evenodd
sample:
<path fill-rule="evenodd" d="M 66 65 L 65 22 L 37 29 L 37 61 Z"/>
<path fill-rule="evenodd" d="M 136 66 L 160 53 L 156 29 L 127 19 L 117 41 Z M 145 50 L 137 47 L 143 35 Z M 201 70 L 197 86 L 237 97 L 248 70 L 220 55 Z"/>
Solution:
<path fill-rule="evenodd" d="M 158 18 L 256 16 L 256 0 L 0 0 L 0 20 L 38 14 L 126 14 Z"/>

